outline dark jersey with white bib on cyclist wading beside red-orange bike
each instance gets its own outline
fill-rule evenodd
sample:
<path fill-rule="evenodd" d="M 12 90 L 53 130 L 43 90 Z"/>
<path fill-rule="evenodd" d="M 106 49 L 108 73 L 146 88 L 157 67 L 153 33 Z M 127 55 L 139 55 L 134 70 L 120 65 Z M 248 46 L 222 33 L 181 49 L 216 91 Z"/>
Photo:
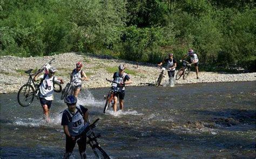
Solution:
<path fill-rule="evenodd" d="M 128 81 L 130 79 L 130 77 L 126 73 L 120 75 L 119 72 L 114 73 L 113 78 L 113 81 L 118 84 L 124 83 L 125 81 Z M 118 86 L 117 84 L 113 83 L 112 89 L 114 91 L 121 92 L 125 90 L 125 86 Z"/>

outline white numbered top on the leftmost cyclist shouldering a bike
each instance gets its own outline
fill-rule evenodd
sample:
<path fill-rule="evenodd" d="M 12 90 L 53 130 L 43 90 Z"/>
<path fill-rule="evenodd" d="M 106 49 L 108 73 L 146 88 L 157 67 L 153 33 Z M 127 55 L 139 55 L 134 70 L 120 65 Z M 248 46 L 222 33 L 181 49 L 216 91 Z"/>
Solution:
<path fill-rule="evenodd" d="M 39 87 L 41 92 L 39 97 L 44 98 L 46 100 L 53 100 L 53 77 L 54 76 L 50 78 L 49 75 L 46 75 L 45 78 L 44 75 L 38 77 L 38 80 L 43 79 L 43 82 Z M 60 84 L 60 81 L 56 77 L 54 79 L 54 82 L 56 84 Z"/>

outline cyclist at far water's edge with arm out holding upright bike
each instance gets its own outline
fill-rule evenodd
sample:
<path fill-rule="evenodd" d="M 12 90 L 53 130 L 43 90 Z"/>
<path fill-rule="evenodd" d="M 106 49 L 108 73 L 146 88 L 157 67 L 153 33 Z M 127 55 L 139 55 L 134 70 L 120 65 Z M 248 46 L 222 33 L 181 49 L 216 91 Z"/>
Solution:
<path fill-rule="evenodd" d="M 168 70 L 169 83 L 171 83 L 171 78 L 174 78 L 175 68 L 177 67 L 177 62 L 176 62 L 176 60 L 173 59 L 173 53 L 168 53 L 168 56 L 169 56 L 169 58 L 160 62 L 158 64 L 158 66 L 161 66 L 165 62 L 167 63 L 166 70 Z"/>

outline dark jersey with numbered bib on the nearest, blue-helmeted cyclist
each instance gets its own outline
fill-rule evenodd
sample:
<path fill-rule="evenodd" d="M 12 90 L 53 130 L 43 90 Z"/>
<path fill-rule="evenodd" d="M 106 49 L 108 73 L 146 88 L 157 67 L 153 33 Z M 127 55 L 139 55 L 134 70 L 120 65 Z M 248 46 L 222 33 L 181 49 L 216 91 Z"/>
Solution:
<path fill-rule="evenodd" d="M 79 130 L 85 125 L 83 113 L 86 111 L 87 109 L 85 107 L 77 105 L 74 114 L 72 114 L 68 109 L 65 109 L 63 112 L 61 125 L 68 125 L 71 136 L 79 135 Z"/>

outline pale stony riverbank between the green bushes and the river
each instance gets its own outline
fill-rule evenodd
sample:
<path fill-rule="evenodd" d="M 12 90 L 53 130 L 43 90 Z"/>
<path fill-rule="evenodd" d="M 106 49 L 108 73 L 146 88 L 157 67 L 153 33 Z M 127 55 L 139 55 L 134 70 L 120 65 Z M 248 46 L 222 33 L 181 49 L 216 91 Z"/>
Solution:
<path fill-rule="evenodd" d="M 153 64 L 138 63 L 137 66 L 136 62 L 109 59 L 106 56 L 93 56 L 89 54 L 65 53 L 44 57 L 1 56 L 0 93 L 18 92 L 19 88 L 28 81 L 29 76 L 24 71 L 28 69 L 37 70 L 52 58 L 56 59 L 51 64 L 58 69 L 56 76 L 62 77 L 65 82 L 69 82 L 68 74 L 76 67 L 76 62 L 82 61 L 84 63 L 83 70 L 90 78 L 89 81 L 83 82 L 83 88 L 109 87 L 110 83 L 106 82 L 105 79 L 112 79 L 113 72 L 118 70 L 120 63 L 125 64 L 127 72 L 130 72 L 130 77 L 133 81 L 130 86 L 145 85 L 142 83 L 154 84 L 160 73 L 160 69 Z M 196 73 L 192 71 L 186 80 L 176 80 L 176 84 L 256 81 L 256 73 L 225 74 L 199 72 L 199 77 L 199 79 L 196 79 Z"/>

